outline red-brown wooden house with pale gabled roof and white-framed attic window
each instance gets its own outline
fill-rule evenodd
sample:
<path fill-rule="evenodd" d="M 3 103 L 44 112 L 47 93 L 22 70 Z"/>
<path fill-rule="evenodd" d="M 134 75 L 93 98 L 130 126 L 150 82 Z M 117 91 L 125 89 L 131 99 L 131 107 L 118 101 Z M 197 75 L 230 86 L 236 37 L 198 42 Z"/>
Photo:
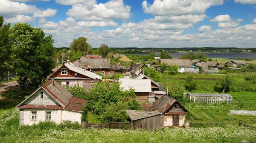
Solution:
<path fill-rule="evenodd" d="M 88 70 L 84 70 L 80 67 L 76 67 L 69 60 L 67 63 L 55 69 L 47 79 L 54 79 L 55 81 L 61 83 L 61 85 L 73 86 L 74 84 L 79 84 L 82 86 L 84 81 L 101 81 L 102 76 L 92 73 Z"/>

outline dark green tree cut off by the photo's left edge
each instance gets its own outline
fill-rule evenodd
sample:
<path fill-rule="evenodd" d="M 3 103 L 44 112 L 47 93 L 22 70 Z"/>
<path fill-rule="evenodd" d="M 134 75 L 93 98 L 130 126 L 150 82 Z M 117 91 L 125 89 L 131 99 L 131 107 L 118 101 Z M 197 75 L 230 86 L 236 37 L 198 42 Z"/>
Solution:
<path fill-rule="evenodd" d="M 9 28 L 10 23 L 3 22 L 3 16 L 0 16 L 0 80 L 8 76 L 7 73 L 11 69 L 9 60 L 10 44 L 9 44 Z"/>

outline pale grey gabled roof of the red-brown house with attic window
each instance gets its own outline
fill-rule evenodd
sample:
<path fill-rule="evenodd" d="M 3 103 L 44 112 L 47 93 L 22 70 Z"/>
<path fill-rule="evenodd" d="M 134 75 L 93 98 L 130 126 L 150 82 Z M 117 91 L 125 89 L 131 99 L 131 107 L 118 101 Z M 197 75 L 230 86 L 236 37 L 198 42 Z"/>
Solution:
<path fill-rule="evenodd" d="M 63 64 L 61 67 L 63 67 L 63 66 L 67 67 L 69 70 L 72 70 L 72 71 L 74 71 L 74 72 L 76 72 L 76 73 L 80 73 L 81 75 L 87 76 L 87 77 L 89 77 L 89 78 L 91 78 L 91 79 L 99 79 L 99 80 L 102 80 L 102 76 L 99 76 L 99 75 L 97 75 L 96 73 L 90 72 L 90 71 L 88 71 L 88 70 L 84 70 L 84 69 L 82 69 L 82 68 L 80 68 L 80 67 L 76 67 L 76 66 L 75 66 L 74 64 L 72 64 L 72 63 L 65 63 L 65 64 Z M 61 67 L 59 67 L 58 70 L 61 70 Z M 54 73 L 56 73 L 58 70 L 56 70 Z M 52 75 L 54 75 L 54 73 L 52 73 Z M 51 76 L 52 76 L 52 75 L 51 75 Z M 49 76 L 49 77 L 51 77 L 51 76 Z M 49 77 L 48 77 L 48 78 L 49 78 Z"/>

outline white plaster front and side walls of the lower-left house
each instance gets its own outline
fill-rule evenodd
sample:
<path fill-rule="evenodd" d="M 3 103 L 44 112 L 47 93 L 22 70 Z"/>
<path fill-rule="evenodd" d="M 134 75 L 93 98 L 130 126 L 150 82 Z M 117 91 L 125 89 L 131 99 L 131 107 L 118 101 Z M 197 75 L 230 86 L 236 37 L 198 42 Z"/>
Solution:
<path fill-rule="evenodd" d="M 31 120 L 31 112 L 37 111 L 37 120 Z M 61 123 L 64 120 L 77 121 L 81 123 L 81 112 L 67 111 L 64 109 L 24 109 L 23 110 L 23 125 L 33 125 L 37 124 L 40 121 L 46 121 L 46 112 L 52 111 L 52 122 L 57 124 Z M 22 114 L 22 111 L 20 111 Z"/>

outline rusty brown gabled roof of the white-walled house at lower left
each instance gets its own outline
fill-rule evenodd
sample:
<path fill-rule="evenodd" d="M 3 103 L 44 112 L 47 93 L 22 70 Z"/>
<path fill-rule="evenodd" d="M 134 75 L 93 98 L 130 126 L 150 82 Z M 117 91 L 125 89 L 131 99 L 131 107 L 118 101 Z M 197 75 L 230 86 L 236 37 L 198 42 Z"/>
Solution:
<path fill-rule="evenodd" d="M 62 87 L 58 82 L 48 81 L 39 87 L 36 91 L 43 88 L 58 104 L 60 105 L 34 105 L 34 104 L 23 104 L 26 100 L 28 100 L 32 95 L 32 93 L 28 98 L 22 101 L 17 108 L 28 108 L 28 109 L 68 109 L 73 111 L 83 112 L 82 108 L 86 101 L 73 96 L 69 93 L 64 87 Z"/>

